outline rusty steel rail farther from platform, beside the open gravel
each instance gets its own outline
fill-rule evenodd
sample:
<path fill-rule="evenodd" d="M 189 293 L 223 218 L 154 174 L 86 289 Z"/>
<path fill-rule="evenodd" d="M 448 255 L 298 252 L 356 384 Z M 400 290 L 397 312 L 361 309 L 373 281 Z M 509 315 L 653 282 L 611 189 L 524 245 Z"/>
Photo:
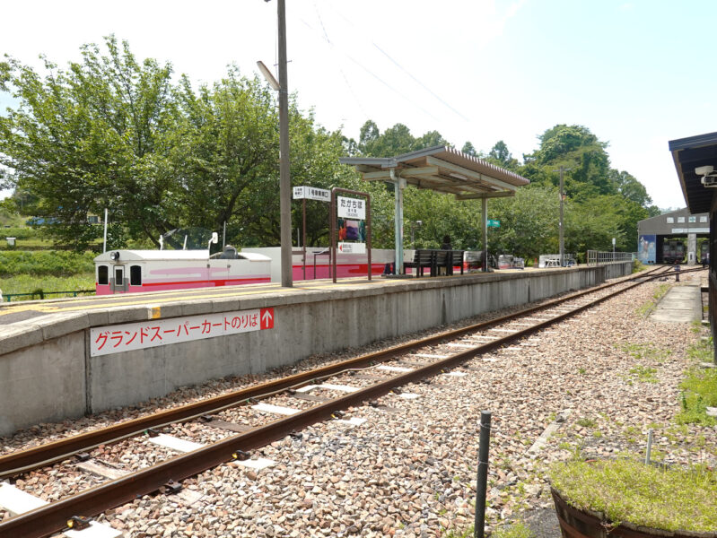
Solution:
<path fill-rule="evenodd" d="M 655 278 L 660 274 L 655 275 Z M 650 279 L 648 279 L 650 280 Z M 625 282 L 625 281 L 623 281 Z M 646 282 L 646 281 L 643 281 Z M 188 454 L 175 456 L 162 464 L 154 465 L 137 473 L 128 474 L 117 480 L 101 484 L 89 490 L 59 500 L 45 507 L 36 508 L 19 516 L 14 516 L 0 523 L 0 538 L 23 536 L 25 538 L 42 538 L 65 527 L 66 521 L 72 516 L 94 516 L 102 511 L 129 502 L 139 495 L 159 490 L 170 481 L 181 481 L 190 476 L 202 473 L 218 464 L 233 459 L 238 451 L 248 451 L 278 439 L 289 433 L 302 430 L 311 424 L 330 418 L 335 412 L 345 410 L 354 405 L 381 395 L 388 394 L 392 389 L 430 377 L 445 369 L 453 368 L 460 363 L 472 359 L 476 355 L 493 351 L 507 343 L 536 333 L 550 325 L 554 325 L 567 317 L 572 317 L 599 303 L 612 299 L 616 295 L 631 290 L 643 282 L 635 282 L 621 290 L 600 297 L 590 303 L 573 308 L 536 325 L 508 334 L 492 342 L 478 345 L 475 348 L 461 351 L 444 360 L 439 360 L 422 368 L 415 369 L 397 377 L 391 377 L 376 385 L 366 387 L 349 395 L 341 396 L 326 404 L 319 404 L 308 410 L 298 412 L 290 417 L 270 422 L 255 430 L 223 439 L 207 447 L 198 448 Z"/>

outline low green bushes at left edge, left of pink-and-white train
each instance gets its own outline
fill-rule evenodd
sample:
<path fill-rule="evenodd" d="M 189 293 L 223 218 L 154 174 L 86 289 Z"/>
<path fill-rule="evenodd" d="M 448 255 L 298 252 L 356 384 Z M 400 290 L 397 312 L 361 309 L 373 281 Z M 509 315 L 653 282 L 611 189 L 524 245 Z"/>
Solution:
<path fill-rule="evenodd" d="M 4 251 L 0 252 L 0 276 L 18 274 L 35 276 L 70 276 L 94 271 L 92 252 L 67 252 L 59 250 Z"/>

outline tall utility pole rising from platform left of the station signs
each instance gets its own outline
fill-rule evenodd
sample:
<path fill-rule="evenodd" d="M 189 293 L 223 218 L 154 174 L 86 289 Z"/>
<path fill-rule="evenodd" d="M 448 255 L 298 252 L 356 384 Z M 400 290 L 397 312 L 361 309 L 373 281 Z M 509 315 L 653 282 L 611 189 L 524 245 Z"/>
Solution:
<path fill-rule="evenodd" d="M 292 275 L 292 179 L 289 176 L 289 90 L 286 81 L 286 6 L 277 0 L 279 19 L 279 208 L 281 211 L 282 286 L 293 286 Z"/>

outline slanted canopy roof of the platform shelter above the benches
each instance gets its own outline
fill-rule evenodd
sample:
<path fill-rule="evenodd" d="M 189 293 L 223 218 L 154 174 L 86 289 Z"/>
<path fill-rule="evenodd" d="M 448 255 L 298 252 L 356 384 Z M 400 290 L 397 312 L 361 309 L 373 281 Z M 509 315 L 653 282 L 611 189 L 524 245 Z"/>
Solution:
<path fill-rule="evenodd" d="M 459 200 L 515 195 L 529 180 L 448 146 L 434 146 L 396 157 L 342 157 L 367 181 L 392 181 L 394 169 L 409 185 L 456 195 Z"/>

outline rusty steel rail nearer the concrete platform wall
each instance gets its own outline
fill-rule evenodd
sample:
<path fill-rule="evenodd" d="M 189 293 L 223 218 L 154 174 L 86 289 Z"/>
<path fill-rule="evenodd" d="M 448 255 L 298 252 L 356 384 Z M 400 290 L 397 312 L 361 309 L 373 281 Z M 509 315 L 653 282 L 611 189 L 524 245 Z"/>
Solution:
<path fill-rule="evenodd" d="M 625 282 L 639 280 L 645 277 L 657 278 L 659 276 L 664 276 L 665 274 L 671 274 L 655 274 L 657 271 L 660 271 L 660 269 L 662 269 L 662 267 L 657 267 L 647 273 L 636 274 L 631 278 L 624 279 L 619 282 L 608 282 L 598 287 L 590 288 L 590 290 L 578 291 L 559 299 L 552 299 L 535 307 L 523 308 L 518 312 L 508 314 L 503 317 L 496 317 L 485 322 L 468 325 L 459 329 L 453 329 L 441 334 L 434 334 L 433 336 L 429 336 L 422 340 L 399 344 L 385 350 L 374 351 L 372 353 L 361 355 L 360 357 L 354 357 L 354 359 L 344 360 L 319 369 L 312 369 L 306 372 L 294 374 L 293 376 L 275 379 L 274 381 L 269 381 L 257 386 L 249 386 L 226 395 L 215 396 L 194 404 L 182 405 L 174 409 L 153 413 L 131 421 L 120 422 L 100 430 L 88 431 L 69 438 L 59 439 L 39 447 L 32 447 L 26 450 L 19 450 L 11 454 L 0 456 L 0 478 L 31 471 L 39 466 L 66 459 L 67 457 L 74 456 L 75 454 L 92 450 L 92 448 L 99 447 L 100 445 L 106 445 L 118 442 L 125 438 L 131 438 L 149 428 L 159 428 L 171 423 L 196 419 L 202 415 L 217 412 L 218 410 L 231 407 L 232 405 L 241 404 L 249 398 L 258 398 L 269 393 L 275 393 L 279 390 L 292 388 L 294 386 L 301 386 L 302 384 L 309 383 L 317 378 L 335 375 L 341 370 L 362 368 L 375 361 L 389 360 L 392 355 L 420 348 L 431 343 L 441 342 L 442 340 L 455 338 L 460 334 L 485 330 L 493 325 L 500 325 L 518 317 L 524 317 L 540 310 L 553 308 L 566 301 L 578 299 L 584 295 L 605 290 Z"/>

